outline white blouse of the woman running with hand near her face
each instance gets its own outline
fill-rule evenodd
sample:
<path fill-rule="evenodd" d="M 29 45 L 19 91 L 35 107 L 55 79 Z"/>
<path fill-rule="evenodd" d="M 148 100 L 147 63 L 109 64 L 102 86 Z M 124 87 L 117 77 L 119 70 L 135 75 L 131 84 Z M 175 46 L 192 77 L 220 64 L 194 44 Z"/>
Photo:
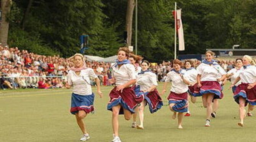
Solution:
<path fill-rule="evenodd" d="M 183 69 L 181 73 L 185 73 L 186 70 Z M 186 80 L 189 80 L 187 76 L 183 76 Z M 171 92 L 174 93 L 185 93 L 188 91 L 188 85 L 185 84 L 185 82 L 181 79 L 180 75 L 175 73 L 174 71 L 170 71 L 167 73 L 167 77 L 165 79 L 165 82 L 172 81 L 172 87 Z"/>

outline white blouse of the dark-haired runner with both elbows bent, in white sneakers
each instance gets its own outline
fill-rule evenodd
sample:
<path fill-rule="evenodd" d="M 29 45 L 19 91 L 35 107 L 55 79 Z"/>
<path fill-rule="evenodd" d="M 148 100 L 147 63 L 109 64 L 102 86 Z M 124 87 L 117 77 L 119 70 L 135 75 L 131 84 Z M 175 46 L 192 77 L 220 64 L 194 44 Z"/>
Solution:
<path fill-rule="evenodd" d="M 214 62 L 216 63 L 216 62 Z M 216 63 L 217 64 L 217 63 Z M 201 75 L 201 81 L 217 81 L 219 75 L 226 74 L 225 70 L 219 65 L 208 65 L 201 63 L 197 67 L 198 74 Z"/>

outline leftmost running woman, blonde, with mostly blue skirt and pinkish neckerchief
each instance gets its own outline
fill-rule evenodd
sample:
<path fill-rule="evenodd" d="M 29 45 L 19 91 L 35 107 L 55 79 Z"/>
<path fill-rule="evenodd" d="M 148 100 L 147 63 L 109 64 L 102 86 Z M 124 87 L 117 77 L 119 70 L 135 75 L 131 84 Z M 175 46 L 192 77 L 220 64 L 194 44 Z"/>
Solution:
<path fill-rule="evenodd" d="M 83 55 L 75 54 L 69 59 L 73 61 L 74 64 L 68 71 L 68 82 L 66 85 L 67 89 L 73 87 L 70 112 L 76 116 L 76 122 L 83 133 L 80 141 L 85 141 L 89 139 L 90 136 L 85 128 L 83 118 L 94 111 L 94 93 L 92 93 L 90 77 L 96 81 L 97 93 L 100 98 L 102 98 L 103 95 L 100 91 L 99 78 L 96 76 L 93 69 L 86 68 Z"/>

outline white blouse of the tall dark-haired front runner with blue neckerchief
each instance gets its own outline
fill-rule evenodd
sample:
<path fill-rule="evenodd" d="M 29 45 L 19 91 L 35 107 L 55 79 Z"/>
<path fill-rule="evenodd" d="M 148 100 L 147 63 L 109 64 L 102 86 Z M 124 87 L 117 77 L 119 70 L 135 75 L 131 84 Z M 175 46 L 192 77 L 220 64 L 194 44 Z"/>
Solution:
<path fill-rule="evenodd" d="M 128 81 L 136 79 L 135 67 L 132 64 L 123 64 L 120 68 L 112 64 L 112 76 L 115 77 L 115 85 L 123 85 Z M 130 85 L 131 87 L 132 85 Z"/>

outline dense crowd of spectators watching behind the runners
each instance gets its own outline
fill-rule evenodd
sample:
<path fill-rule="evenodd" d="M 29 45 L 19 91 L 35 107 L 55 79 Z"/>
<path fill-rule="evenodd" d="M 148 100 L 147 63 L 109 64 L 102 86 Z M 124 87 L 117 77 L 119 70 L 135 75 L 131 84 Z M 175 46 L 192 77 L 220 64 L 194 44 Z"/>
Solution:
<path fill-rule="evenodd" d="M 68 58 L 59 55 L 38 55 L 18 47 L 9 48 L 0 45 L 0 85 L 6 88 L 63 88 L 65 87 L 68 70 L 73 65 Z M 226 70 L 233 68 L 234 61 L 219 61 Z M 201 61 L 195 60 L 196 65 Z M 111 63 L 87 62 L 86 66 L 94 69 L 100 79 L 101 85 L 112 85 Z M 172 69 L 172 62 L 163 61 L 160 64 L 152 63 L 152 71 L 157 74 L 159 82 L 164 81 L 165 75 Z M 6 78 L 10 77 L 10 78 Z M 91 82 L 95 85 L 95 82 Z"/>

